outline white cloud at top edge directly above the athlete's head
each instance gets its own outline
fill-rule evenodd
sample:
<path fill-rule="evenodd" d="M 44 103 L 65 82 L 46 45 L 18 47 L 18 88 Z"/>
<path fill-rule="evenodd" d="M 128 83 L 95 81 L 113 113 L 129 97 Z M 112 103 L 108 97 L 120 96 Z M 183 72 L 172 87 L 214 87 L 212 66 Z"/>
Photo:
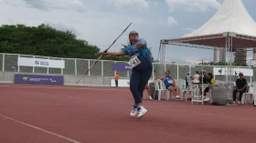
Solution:
<path fill-rule="evenodd" d="M 135 9 L 147 9 L 149 7 L 145 0 L 110 0 L 116 7 L 129 7 Z"/>

